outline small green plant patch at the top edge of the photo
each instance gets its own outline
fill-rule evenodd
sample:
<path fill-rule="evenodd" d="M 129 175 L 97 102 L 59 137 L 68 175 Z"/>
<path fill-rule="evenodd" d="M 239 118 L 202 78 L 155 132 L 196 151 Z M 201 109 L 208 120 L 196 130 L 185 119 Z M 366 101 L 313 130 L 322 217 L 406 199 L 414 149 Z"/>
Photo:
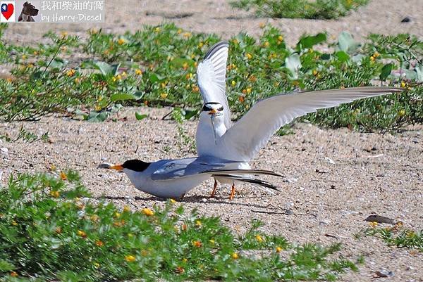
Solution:
<path fill-rule="evenodd" d="M 254 9 L 257 15 L 271 18 L 340 18 L 351 10 L 367 5 L 369 0 L 236 0 L 234 8 Z"/>

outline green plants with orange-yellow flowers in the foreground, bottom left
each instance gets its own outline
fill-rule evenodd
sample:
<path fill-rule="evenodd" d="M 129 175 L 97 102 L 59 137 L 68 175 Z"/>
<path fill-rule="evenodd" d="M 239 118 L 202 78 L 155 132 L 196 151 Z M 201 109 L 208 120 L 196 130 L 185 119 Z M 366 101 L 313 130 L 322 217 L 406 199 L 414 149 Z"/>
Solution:
<path fill-rule="evenodd" d="M 339 244 L 292 245 L 259 222 L 236 238 L 173 200 L 133 212 L 87 197 L 73 171 L 12 176 L 0 193 L 0 279 L 333 281 L 356 269 Z"/>

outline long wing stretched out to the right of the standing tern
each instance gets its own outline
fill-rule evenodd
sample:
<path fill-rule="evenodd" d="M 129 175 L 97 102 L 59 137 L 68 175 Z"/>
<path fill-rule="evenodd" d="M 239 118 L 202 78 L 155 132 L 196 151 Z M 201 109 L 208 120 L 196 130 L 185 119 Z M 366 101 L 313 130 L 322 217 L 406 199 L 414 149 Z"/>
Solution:
<path fill-rule="evenodd" d="M 301 92 L 271 96 L 256 103 L 247 114 L 221 137 L 221 148 L 228 150 L 227 158 L 250 161 L 266 145 L 270 137 L 295 117 L 331 108 L 341 103 L 400 92 L 393 87 L 356 87 Z"/>

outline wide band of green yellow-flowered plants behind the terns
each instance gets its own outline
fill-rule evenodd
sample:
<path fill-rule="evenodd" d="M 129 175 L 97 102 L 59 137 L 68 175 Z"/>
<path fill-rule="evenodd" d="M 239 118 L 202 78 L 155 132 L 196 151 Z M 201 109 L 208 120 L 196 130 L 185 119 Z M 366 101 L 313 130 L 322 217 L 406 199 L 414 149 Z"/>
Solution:
<path fill-rule="evenodd" d="M 1 119 L 37 120 L 56 113 L 101 122 L 121 106 L 140 104 L 195 113 L 190 110 L 201 108 L 197 62 L 219 41 L 214 34 L 194 34 L 173 24 L 123 35 L 92 30 L 87 39 L 47 36 L 51 44 L 4 46 L 15 54 L 5 58 L 15 66 L 15 79 L 0 79 Z M 333 51 L 317 51 L 319 44 Z M 90 59 L 71 61 L 73 52 Z M 357 42 L 341 32 L 329 44 L 327 35 L 319 33 L 304 35 L 290 47 L 280 30 L 268 26 L 258 40 L 242 33 L 230 40 L 228 102 L 239 118 L 259 99 L 275 94 L 383 82 L 410 90 L 321 110 L 302 120 L 365 132 L 396 131 L 422 122 L 422 53 L 423 42 L 410 34 L 374 34 Z"/>

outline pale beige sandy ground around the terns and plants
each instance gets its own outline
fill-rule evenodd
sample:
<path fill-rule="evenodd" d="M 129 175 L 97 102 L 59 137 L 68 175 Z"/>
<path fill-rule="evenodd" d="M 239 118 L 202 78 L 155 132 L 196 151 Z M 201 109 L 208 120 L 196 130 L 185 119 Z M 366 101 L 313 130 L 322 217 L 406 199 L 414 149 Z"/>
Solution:
<path fill-rule="evenodd" d="M 15 24 L 6 40 L 34 43 L 51 28 L 84 36 L 92 27 L 112 32 L 136 30 L 142 24 L 173 21 L 196 32 L 215 32 L 228 38 L 240 31 L 260 34 L 259 23 L 271 23 L 283 30 L 295 44 L 304 32 L 326 30 L 336 36 L 348 30 L 356 38 L 372 32 L 410 32 L 423 37 L 422 0 L 371 1 L 341 20 L 288 20 L 255 18 L 252 13 L 234 11 L 221 1 L 106 1 L 106 23 L 102 25 Z M 400 23 L 405 16 L 410 23 Z M 44 28 L 45 27 L 45 28 Z M 142 121 L 134 112 L 148 113 Z M 1 184 L 9 174 L 39 172 L 51 165 L 80 171 L 94 196 L 107 196 L 119 205 L 151 207 L 163 201 L 133 188 L 123 174 L 97 169 L 101 162 L 122 162 L 128 158 L 154 161 L 193 155 L 178 147 L 176 124 L 163 121 L 170 109 L 129 108 L 118 113 L 127 121 L 90 123 L 61 117 L 45 117 L 39 122 L 0 122 L 0 135 L 16 136 L 20 126 L 41 135 L 49 132 L 50 142 L 7 143 L 0 141 Z M 191 136 L 197 122 L 184 127 Z M 235 232 L 243 233 L 252 219 L 261 219 L 267 232 L 280 233 L 290 241 L 344 244 L 342 254 L 351 259 L 364 255 L 357 273 L 348 272 L 341 281 L 371 281 L 375 271 L 393 271 L 386 281 L 423 281 L 423 254 L 407 249 L 388 248 L 376 238 L 357 241 L 353 234 L 368 226 L 369 214 L 401 220 L 412 229 L 423 229 L 423 138 L 422 125 L 407 127 L 396 135 L 361 134 L 348 129 L 319 129 L 310 124 L 295 125 L 294 133 L 274 136 L 252 162 L 260 169 L 284 174 L 270 179 L 281 193 L 270 195 L 250 186 L 240 187 L 235 200 L 223 187 L 210 199 L 212 181 L 185 196 L 188 208 L 221 217 Z M 329 159 L 332 161 L 329 161 Z M 287 212 L 288 211 L 288 212 Z M 329 236 L 328 236 L 329 235 Z"/>

